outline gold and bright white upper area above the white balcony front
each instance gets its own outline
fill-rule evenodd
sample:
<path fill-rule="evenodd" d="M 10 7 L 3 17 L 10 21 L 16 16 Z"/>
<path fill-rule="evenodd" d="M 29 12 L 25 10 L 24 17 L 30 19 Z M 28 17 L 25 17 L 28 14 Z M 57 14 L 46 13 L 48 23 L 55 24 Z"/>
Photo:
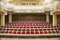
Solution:
<path fill-rule="evenodd" d="M 42 4 L 48 4 L 53 2 L 53 0 L 2 0 L 8 3 L 12 3 L 12 4 L 16 4 L 16 5 L 20 5 L 22 3 L 28 3 L 28 5 L 31 4 L 36 4 L 36 5 L 42 5 Z M 27 5 L 27 4 L 26 4 Z"/>

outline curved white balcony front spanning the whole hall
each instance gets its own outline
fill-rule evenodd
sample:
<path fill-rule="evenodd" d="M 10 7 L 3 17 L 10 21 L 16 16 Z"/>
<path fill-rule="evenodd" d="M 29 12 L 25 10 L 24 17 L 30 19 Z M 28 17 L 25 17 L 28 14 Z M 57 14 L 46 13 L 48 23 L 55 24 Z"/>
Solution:
<path fill-rule="evenodd" d="M 50 3 L 47 5 L 13 5 L 10 3 L 0 2 L 1 7 L 6 11 L 14 11 L 14 12 L 42 12 L 42 11 L 50 11 L 55 10 L 56 6 L 59 4 L 59 1 L 54 3 Z"/>

